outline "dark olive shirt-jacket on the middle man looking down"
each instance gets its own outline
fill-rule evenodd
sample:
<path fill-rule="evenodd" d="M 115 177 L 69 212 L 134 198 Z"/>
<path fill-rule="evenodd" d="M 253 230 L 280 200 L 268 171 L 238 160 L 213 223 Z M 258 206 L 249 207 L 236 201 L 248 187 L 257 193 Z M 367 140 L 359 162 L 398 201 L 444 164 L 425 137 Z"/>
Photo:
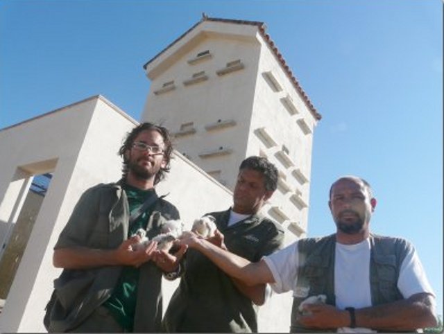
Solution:
<path fill-rule="evenodd" d="M 228 227 L 230 210 L 209 213 L 234 254 L 259 261 L 282 247 L 278 224 L 253 215 Z M 188 333 L 257 332 L 257 306 L 243 295 L 230 276 L 194 249 L 185 255 L 185 274 L 165 313 L 163 330 Z"/>

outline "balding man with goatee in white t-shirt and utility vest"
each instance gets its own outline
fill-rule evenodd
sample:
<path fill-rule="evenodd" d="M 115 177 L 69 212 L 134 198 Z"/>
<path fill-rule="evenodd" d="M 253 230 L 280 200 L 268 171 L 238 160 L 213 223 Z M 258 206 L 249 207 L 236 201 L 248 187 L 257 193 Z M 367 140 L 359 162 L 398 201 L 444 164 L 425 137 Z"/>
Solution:
<path fill-rule="evenodd" d="M 341 177 L 328 202 L 336 234 L 305 238 L 251 263 L 193 236 L 182 243 L 248 285 L 293 290 L 291 332 L 412 331 L 436 326 L 435 297 L 413 245 L 370 233 L 368 182 Z M 314 296 L 323 302 L 302 303 Z M 301 305 L 302 304 L 302 305 Z"/>

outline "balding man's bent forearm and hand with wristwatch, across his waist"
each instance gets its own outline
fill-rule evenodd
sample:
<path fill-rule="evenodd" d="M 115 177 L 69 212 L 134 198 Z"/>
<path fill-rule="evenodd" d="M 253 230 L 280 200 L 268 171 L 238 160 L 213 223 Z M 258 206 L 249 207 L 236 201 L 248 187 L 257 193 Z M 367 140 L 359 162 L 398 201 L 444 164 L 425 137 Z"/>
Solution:
<path fill-rule="evenodd" d="M 356 326 L 386 331 L 413 331 L 436 326 L 434 297 L 418 293 L 408 299 L 355 310 Z M 350 314 L 334 306 L 307 304 L 311 315 L 301 315 L 298 321 L 308 328 L 340 328 L 350 326 Z"/>

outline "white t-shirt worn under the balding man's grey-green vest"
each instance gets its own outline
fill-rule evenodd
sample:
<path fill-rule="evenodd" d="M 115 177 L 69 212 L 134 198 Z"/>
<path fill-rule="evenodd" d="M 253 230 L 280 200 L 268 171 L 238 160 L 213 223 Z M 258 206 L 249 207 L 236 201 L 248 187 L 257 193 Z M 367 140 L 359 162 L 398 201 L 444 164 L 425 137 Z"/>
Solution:
<path fill-rule="evenodd" d="M 264 261 L 275 283 L 271 288 L 275 292 L 293 290 L 293 297 L 308 297 L 305 291 L 296 289 L 298 277 L 298 241 L 275 252 L 264 256 Z M 419 292 L 429 292 L 434 295 L 432 287 L 425 276 L 422 265 L 412 249 L 402 261 L 398 289 L 402 297 L 409 298 Z M 372 306 L 370 295 L 370 240 L 356 245 L 336 243 L 334 258 L 334 294 L 336 308 L 344 310 L 346 307 L 364 308 Z M 352 328 L 355 332 L 358 328 Z M 362 328 L 364 330 L 364 328 Z M 346 331 L 346 328 L 341 331 Z"/>

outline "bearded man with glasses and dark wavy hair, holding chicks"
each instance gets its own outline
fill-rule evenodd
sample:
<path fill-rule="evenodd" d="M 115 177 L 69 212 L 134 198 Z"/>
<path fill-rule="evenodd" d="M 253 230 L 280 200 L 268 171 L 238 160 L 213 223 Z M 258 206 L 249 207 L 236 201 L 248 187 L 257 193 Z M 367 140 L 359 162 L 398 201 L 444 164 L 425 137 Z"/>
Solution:
<path fill-rule="evenodd" d="M 50 332 L 158 332 L 162 274 L 180 274 L 181 247 L 156 251 L 156 243 L 133 247 L 142 228 L 151 240 L 176 206 L 157 197 L 155 185 L 170 170 L 173 147 L 166 128 L 142 123 L 119 149 L 122 178 L 99 184 L 80 197 L 54 247 L 53 265 L 63 268 L 46 311 Z"/>

